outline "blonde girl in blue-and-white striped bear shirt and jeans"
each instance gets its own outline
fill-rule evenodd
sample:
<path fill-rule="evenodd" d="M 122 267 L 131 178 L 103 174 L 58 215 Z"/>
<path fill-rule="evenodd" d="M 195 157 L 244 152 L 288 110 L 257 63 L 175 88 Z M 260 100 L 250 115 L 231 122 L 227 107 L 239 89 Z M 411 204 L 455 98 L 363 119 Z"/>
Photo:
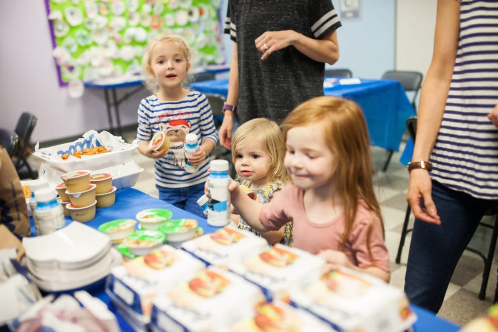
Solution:
<path fill-rule="evenodd" d="M 190 69 L 191 52 L 178 35 L 163 33 L 147 45 L 142 58 L 145 86 L 154 94 L 142 99 L 138 107 L 138 151 L 155 159 L 155 184 L 159 199 L 205 218 L 197 199 L 208 178 L 209 153 L 218 140 L 213 112 L 206 96 L 183 88 Z M 149 141 L 163 131 L 169 149 L 154 151 Z M 200 149 L 188 157 L 197 172 L 184 169 L 185 136 L 195 133 Z"/>

